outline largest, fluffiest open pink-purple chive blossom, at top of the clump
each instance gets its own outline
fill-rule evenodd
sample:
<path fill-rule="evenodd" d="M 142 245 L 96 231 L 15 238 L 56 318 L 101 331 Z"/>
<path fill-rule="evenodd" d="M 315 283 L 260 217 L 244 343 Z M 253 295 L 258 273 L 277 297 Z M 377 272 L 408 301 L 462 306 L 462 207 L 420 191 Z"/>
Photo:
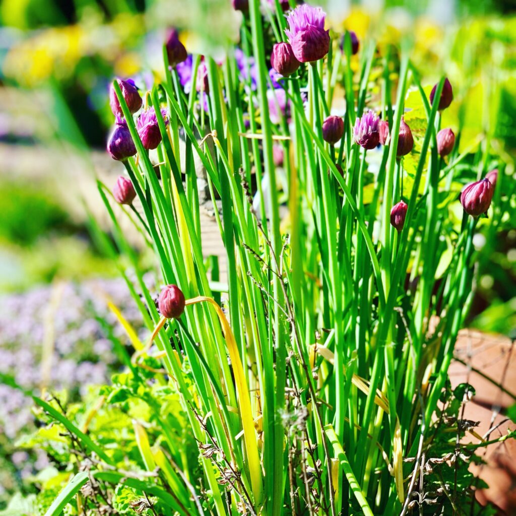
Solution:
<path fill-rule="evenodd" d="M 320 7 L 302 4 L 287 15 L 285 34 L 297 60 L 322 59 L 330 50 L 330 34 L 324 29 L 326 13 Z"/>

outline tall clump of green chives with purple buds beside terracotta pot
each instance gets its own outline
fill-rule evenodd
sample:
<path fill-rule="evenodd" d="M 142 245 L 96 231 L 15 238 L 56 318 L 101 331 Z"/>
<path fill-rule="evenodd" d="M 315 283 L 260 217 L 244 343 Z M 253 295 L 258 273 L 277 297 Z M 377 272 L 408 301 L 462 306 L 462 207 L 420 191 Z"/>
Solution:
<path fill-rule="evenodd" d="M 164 79 L 145 93 L 139 116 L 124 92 L 134 105 L 134 89 L 113 83 L 120 112 L 109 150 L 126 170 L 115 199 L 131 208 L 168 285 L 159 313 L 99 183 L 117 246 L 136 271 L 136 282 L 124 277 L 152 332 L 131 367 L 162 360 L 156 381 L 180 394 L 201 470 L 175 471 L 183 462 L 166 421 L 165 455 L 141 426 L 138 445 L 146 467 L 166 473 L 171 514 L 404 513 L 472 300 L 473 235 L 494 187 L 482 180 L 482 193 L 468 198 L 483 202 L 480 211 L 454 225 L 455 165 L 465 156 L 439 148 L 446 106 L 437 100 L 453 99 L 447 79 L 429 101 L 408 46 L 393 82 L 391 54 L 366 42 L 353 56 L 354 33 L 339 45 L 320 9 L 302 5 L 285 17 L 283 6 L 250 0 L 241 48 L 222 63 L 189 57 L 188 93 L 182 49 L 164 46 Z M 282 43 L 272 62 L 284 77 L 269 73 L 269 33 Z M 345 112 L 335 120 L 337 82 Z M 414 149 L 403 118 L 409 88 L 426 119 Z M 382 138 L 377 114 L 388 123 Z M 212 281 L 203 256 L 196 158 L 225 248 L 225 285 Z M 487 156 L 476 160 L 481 167 Z M 497 181 L 499 189 L 503 174 Z M 167 298 L 178 291 L 179 301 Z"/>

